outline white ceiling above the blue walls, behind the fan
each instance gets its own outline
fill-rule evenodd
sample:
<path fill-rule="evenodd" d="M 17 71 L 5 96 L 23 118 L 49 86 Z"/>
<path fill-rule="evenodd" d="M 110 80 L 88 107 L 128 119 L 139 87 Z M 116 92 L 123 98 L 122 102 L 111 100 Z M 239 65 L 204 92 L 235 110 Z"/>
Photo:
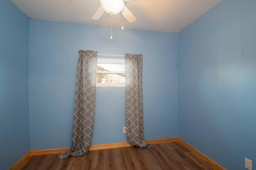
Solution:
<path fill-rule="evenodd" d="M 91 17 L 100 7 L 100 0 L 11 0 L 28 17 L 110 26 L 110 15 L 99 20 Z M 124 4 L 137 20 L 124 28 L 178 33 L 222 0 L 131 0 Z M 36 12 L 34 12 L 36 10 Z M 112 26 L 122 27 L 122 14 L 112 16 Z"/>

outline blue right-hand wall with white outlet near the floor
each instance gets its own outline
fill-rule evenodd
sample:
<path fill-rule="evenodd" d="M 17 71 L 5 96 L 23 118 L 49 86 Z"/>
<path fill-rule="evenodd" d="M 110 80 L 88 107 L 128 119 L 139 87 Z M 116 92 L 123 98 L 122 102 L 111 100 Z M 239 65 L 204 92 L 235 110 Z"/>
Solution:
<path fill-rule="evenodd" d="M 223 0 L 178 33 L 179 137 L 228 170 L 256 162 L 255 9 Z"/>

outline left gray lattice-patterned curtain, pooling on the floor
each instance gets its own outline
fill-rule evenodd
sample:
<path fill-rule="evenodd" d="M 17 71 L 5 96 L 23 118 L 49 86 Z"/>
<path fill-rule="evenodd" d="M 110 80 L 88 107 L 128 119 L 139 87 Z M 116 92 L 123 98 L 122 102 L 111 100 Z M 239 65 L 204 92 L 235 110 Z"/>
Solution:
<path fill-rule="evenodd" d="M 82 156 L 90 149 L 95 111 L 96 62 L 96 51 L 79 51 L 72 147 L 59 154 L 60 159 Z"/>

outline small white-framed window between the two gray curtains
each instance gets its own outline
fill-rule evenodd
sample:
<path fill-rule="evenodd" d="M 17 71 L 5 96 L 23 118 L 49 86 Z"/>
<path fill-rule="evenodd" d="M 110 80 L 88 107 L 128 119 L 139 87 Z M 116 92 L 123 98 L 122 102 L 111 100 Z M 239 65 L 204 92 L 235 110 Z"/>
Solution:
<path fill-rule="evenodd" d="M 97 57 L 96 87 L 125 87 L 124 57 Z"/>

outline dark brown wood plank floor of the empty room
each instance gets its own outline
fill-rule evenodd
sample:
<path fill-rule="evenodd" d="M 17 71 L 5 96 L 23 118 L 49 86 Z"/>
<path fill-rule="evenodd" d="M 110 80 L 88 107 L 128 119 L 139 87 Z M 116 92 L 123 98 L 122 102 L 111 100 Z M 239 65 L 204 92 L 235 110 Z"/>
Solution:
<path fill-rule="evenodd" d="M 154 144 L 153 148 L 123 147 L 90 150 L 80 157 L 57 154 L 30 157 L 19 170 L 214 170 L 179 143 Z"/>

